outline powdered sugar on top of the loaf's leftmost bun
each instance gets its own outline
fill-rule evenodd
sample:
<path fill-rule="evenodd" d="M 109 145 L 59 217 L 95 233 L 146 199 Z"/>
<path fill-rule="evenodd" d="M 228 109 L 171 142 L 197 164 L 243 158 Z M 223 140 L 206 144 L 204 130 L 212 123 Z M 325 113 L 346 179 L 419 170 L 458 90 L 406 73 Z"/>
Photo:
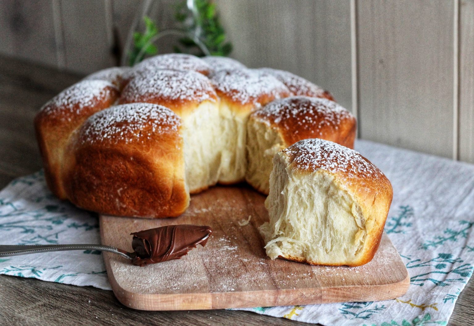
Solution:
<path fill-rule="evenodd" d="M 115 86 L 109 81 L 79 81 L 49 100 L 41 110 L 46 115 L 55 115 L 60 111 L 79 115 L 83 108 L 92 107 L 110 97 L 110 88 L 115 89 Z"/>

